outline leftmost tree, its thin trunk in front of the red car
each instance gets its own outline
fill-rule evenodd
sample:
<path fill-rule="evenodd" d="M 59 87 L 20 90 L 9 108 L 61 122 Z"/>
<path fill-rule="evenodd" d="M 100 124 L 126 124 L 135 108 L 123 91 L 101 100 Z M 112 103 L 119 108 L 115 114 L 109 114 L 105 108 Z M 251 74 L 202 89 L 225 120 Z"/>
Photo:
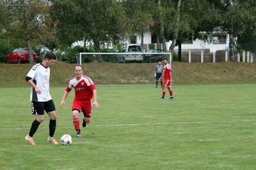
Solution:
<path fill-rule="evenodd" d="M 48 1 L 42 0 L 9 0 L 4 3 L 6 20 L 10 22 L 6 36 L 10 39 L 23 39 L 29 51 L 29 62 L 33 62 L 31 43 L 46 43 L 52 41 L 54 32 L 48 25 Z"/>

